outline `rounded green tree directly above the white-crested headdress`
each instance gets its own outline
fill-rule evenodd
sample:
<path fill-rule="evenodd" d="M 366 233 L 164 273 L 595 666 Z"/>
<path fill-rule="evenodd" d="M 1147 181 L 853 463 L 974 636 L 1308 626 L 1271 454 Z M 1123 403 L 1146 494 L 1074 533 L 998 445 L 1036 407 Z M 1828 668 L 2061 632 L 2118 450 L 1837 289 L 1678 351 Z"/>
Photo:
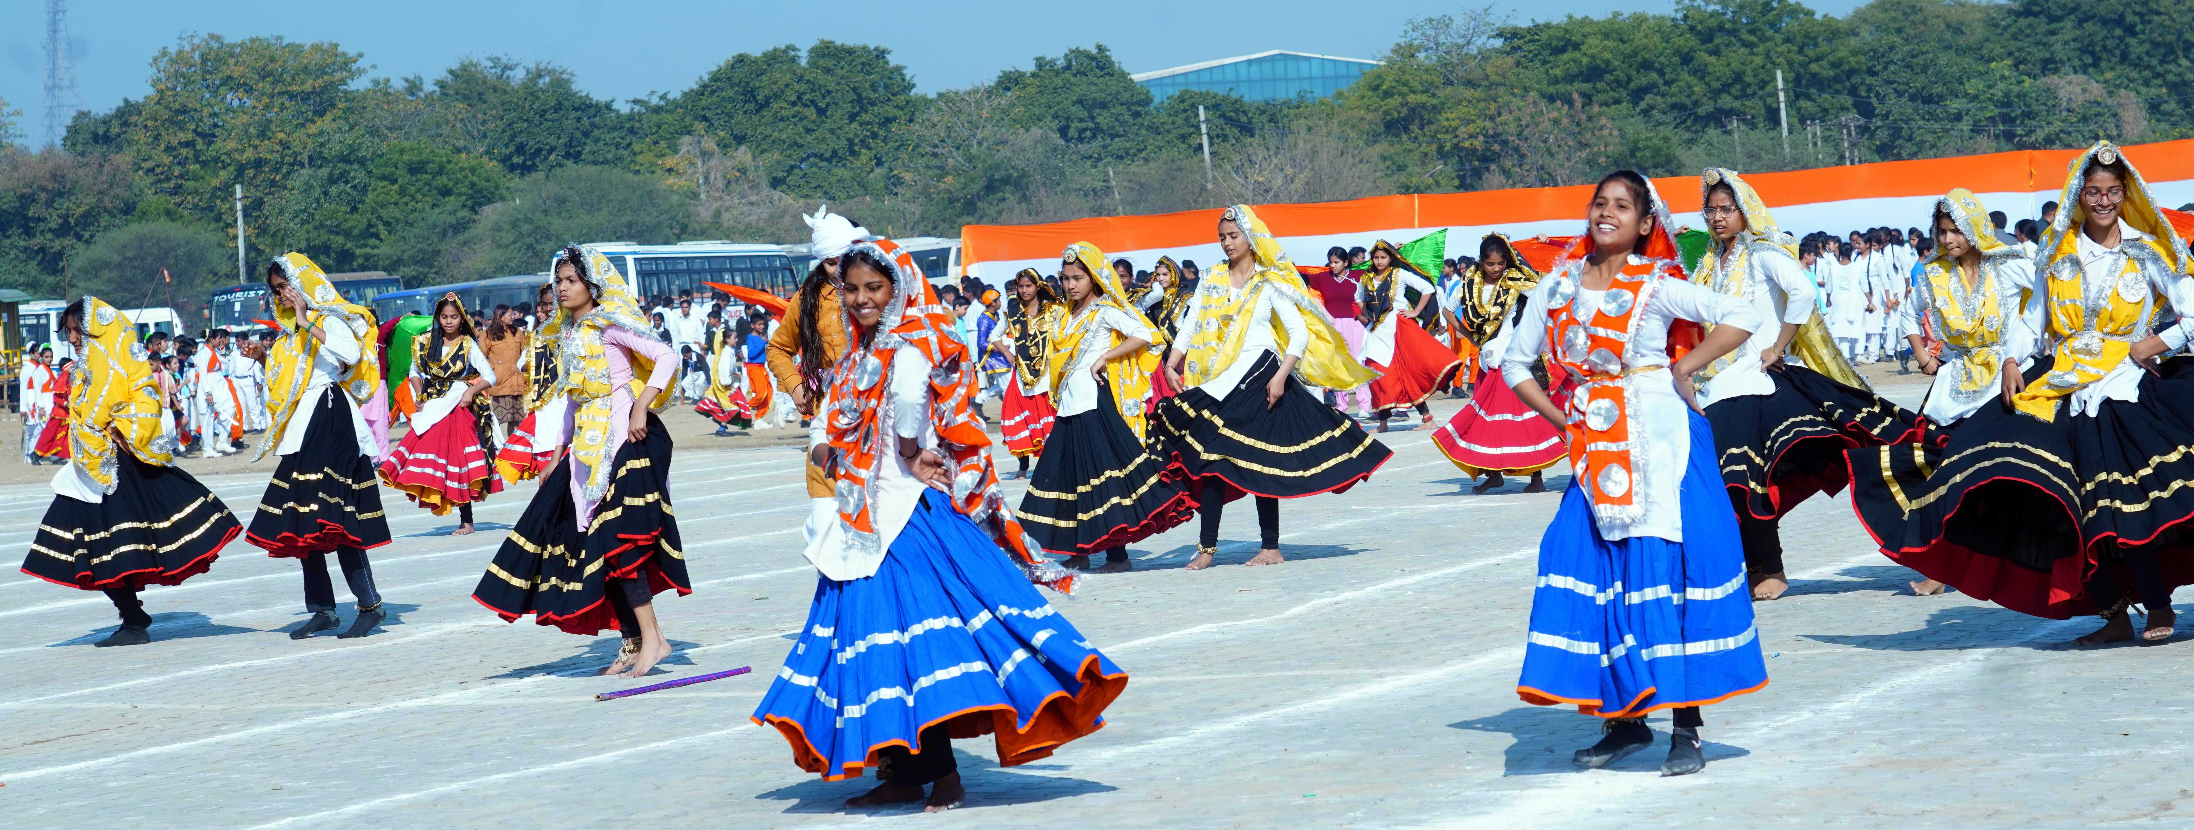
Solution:
<path fill-rule="evenodd" d="M 818 39 L 805 61 L 799 46 L 733 55 L 652 109 L 674 127 L 746 147 L 770 171 L 770 186 L 842 199 L 882 191 L 875 173 L 913 118 L 913 92 L 915 81 L 889 48 Z M 663 155 L 676 153 L 676 136 Z"/>

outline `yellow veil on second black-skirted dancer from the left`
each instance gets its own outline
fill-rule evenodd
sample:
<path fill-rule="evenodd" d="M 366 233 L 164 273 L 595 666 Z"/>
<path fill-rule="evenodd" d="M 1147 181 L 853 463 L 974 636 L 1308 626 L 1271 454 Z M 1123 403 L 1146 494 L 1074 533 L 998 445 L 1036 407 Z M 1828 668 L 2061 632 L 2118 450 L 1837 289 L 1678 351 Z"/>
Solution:
<path fill-rule="evenodd" d="M 301 324 L 296 320 L 296 309 L 287 302 L 270 298 L 274 304 L 274 322 L 281 324 L 281 337 L 274 337 L 274 348 L 268 353 L 268 434 L 259 442 L 259 451 L 252 460 L 261 460 L 274 447 L 281 447 L 283 434 L 290 429 L 290 416 L 296 414 L 305 396 L 305 385 L 312 383 L 312 359 L 318 355 L 316 342 L 312 342 L 314 326 L 347 326 L 351 337 L 358 337 L 358 364 L 351 364 L 351 372 L 338 379 L 342 392 L 351 401 L 366 403 L 373 399 L 373 388 L 382 383 L 382 328 L 373 322 L 373 309 L 349 302 L 336 291 L 336 285 L 327 280 L 327 272 L 320 265 L 298 252 L 287 252 L 274 258 L 274 267 L 281 267 L 290 285 L 305 298 L 307 320 Z"/>

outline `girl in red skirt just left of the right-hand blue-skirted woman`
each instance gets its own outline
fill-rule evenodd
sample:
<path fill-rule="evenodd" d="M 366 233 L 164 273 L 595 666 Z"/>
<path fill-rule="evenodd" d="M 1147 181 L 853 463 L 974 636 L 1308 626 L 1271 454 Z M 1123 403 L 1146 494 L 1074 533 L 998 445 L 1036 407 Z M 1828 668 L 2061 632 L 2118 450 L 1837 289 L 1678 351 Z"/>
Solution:
<path fill-rule="evenodd" d="M 1503 234 L 1485 234 L 1479 241 L 1477 278 L 1457 276 L 1463 285 L 1455 322 L 1457 337 L 1470 342 L 1481 359 L 1481 383 L 1470 390 L 1466 403 L 1446 425 L 1433 431 L 1433 447 L 1448 456 L 1470 477 L 1485 477 L 1472 493 L 1499 488 L 1503 475 L 1531 475 L 1525 493 L 1547 488 L 1540 471 L 1567 456 L 1562 434 L 1547 425 L 1523 399 L 1501 381 L 1501 355 L 1516 331 L 1514 320 L 1523 315 L 1525 293 L 1538 285 L 1538 269 L 1509 245 Z M 1534 364 L 1540 388 L 1553 396 L 1553 405 L 1569 403 L 1569 383 L 1558 361 Z"/>

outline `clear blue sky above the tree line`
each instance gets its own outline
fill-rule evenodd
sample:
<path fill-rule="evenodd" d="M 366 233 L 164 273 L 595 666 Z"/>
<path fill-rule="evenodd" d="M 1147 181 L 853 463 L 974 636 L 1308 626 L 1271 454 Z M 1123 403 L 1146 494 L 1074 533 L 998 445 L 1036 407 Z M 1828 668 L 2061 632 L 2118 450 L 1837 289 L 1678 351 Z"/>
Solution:
<path fill-rule="evenodd" d="M 1854 4 L 1812 2 L 1825 13 Z M 0 9 L 0 99 L 22 112 L 20 129 L 31 142 L 44 127 L 44 7 L 42 0 L 11 0 Z M 1128 72 L 1268 48 L 1380 57 L 1404 20 L 1468 9 L 1430 0 L 1264 0 L 1242 4 L 1255 9 L 1255 18 L 1242 18 L 1235 4 L 1165 0 L 70 0 L 68 7 L 77 79 L 90 109 L 143 96 L 151 55 L 182 33 L 331 39 L 362 53 L 373 66 L 369 77 L 432 79 L 463 57 L 485 55 L 553 61 L 577 72 L 588 92 L 623 101 L 682 90 L 737 53 L 807 46 L 818 37 L 889 46 L 917 88 L 935 92 L 1097 42 L 1110 46 Z M 1523 20 L 1667 11 L 1672 2 L 1538 0 L 1516 7 L 1529 9 L 1516 13 Z"/>

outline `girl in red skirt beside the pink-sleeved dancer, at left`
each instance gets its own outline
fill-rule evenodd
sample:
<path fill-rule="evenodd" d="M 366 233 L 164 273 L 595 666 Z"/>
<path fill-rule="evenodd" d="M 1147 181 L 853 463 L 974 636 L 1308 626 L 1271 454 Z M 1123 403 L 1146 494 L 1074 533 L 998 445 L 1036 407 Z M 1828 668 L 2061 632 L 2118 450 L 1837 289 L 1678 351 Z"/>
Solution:
<path fill-rule="evenodd" d="M 454 506 L 459 534 L 472 532 L 472 504 L 502 491 L 494 416 L 487 396 L 496 368 L 472 333 L 472 318 L 456 293 L 434 302 L 434 328 L 412 342 L 410 434 L 382 460 L 384 484 L 441 517 Z"/>

